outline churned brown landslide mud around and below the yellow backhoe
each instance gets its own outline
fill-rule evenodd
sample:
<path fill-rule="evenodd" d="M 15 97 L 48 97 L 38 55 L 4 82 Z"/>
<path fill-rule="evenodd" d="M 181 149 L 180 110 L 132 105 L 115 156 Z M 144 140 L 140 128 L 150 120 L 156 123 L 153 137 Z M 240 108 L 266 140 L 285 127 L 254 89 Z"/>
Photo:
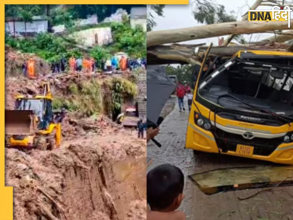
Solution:
<path fill-rule="evenodd" d="M 67 77 L 68 78 L 68 77 Z M 54 79 L 53 95 L 70 77 Z M 6 108 L 15 94 L 41 92 L 41 79 L 8 77 Z M 61 89 L 61 90 L 60 90 Z M 6 185 L 14 219 L 146 219 L 146 141 L 100 115 L 68 113 L 62 145 L 52 151 L 6 149 Z"/>

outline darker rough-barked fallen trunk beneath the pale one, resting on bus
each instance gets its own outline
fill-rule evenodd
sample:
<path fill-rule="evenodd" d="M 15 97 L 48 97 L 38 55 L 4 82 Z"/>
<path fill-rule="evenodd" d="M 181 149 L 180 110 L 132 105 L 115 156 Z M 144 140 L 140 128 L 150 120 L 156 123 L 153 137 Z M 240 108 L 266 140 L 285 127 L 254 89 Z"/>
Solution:
<path fill-rule="evenodd" d="M 198 47 L 195 54 L 195 48 Z M 289 45 L 278 43 L 277 45 L 233 45 L 212 47 L 209 57 L 231 57 L 239 50 L 275 50 L 286 51 Z M 158 45 L 147 49 L 148 65 L 159 64 L 200 64 L 207 46 L 191 44 Z"/>

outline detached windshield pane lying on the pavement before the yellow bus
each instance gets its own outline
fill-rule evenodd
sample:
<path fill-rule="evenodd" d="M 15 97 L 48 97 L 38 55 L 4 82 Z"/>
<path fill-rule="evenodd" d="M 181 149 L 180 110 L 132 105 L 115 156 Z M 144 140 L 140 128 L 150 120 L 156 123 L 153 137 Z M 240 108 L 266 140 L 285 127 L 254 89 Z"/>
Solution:
<path fill-rule="evenodd" d="M 293 185 L 293 166 L 257 166 L 217 169 L 189 176 L 205 194 Z"/>

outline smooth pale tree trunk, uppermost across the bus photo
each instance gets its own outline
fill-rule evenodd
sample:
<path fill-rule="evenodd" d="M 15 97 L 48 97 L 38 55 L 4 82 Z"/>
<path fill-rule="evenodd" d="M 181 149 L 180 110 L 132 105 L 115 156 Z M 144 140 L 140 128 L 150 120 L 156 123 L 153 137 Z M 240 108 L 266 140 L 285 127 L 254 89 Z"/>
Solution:
<path fill-rule="evenodd" d="M 290 22 L 292 27 L 293 19 Z M 228 34 L 261 33 L 286 29 L 289 29 L 287 21 L 236 21 L 166 31 L 151 31 L 147 32 L 147 47 Z"/>

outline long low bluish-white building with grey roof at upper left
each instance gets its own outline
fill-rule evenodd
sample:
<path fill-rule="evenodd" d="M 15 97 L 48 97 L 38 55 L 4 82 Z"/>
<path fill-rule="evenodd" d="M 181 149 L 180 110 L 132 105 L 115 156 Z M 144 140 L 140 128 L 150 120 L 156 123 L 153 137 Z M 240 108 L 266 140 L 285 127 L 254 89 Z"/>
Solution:
<path fill-rule="evenodd" d="M 15 29 L 14 29 L 15 28 Z M 48 20 L 42 16 L 33 16 L 32 22 L 24 22 L 21 18 L 5 18 L 5 32 L 11 35 L 35 35 L 36 33 L 47 32 Z"/>

